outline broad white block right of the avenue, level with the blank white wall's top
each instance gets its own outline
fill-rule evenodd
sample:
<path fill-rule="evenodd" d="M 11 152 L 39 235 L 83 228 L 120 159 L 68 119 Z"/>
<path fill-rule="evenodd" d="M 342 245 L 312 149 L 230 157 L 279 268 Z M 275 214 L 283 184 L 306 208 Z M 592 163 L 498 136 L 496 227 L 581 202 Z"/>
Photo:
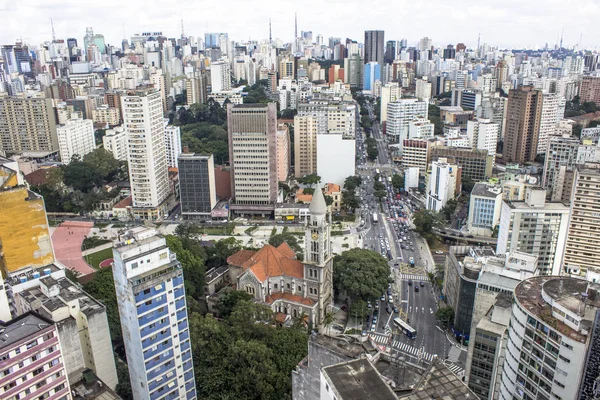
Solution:
<path fill-rule="evenodd" d="M 387 107 L 386 134 L 399 143 L 402 153 L 404 139 L 408 139 L 408 127 L 415 117 L 427 118 L 429 104 L 418 99 L 399 99 Z"/>

